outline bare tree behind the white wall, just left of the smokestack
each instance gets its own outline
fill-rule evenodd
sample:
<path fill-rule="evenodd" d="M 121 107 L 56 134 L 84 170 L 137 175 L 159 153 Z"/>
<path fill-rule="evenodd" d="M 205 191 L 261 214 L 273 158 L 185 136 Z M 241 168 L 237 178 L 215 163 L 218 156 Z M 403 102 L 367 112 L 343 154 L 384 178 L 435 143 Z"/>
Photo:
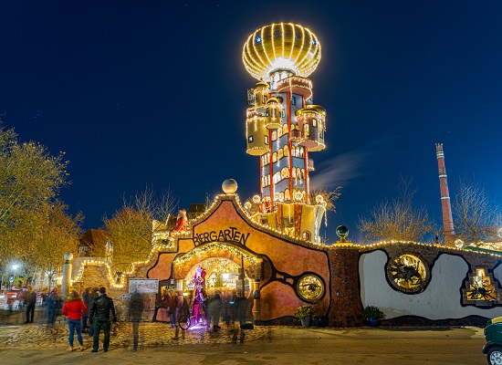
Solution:
<path fill-rule="evenodd" d="M 418 242 L 433 232 L 433 224 L 424 207 L 415 207 L 411 190 L 412 178 L 401 178 L 397 198 L 379 203 L 371 211 L 371 218 L 360 217 L 361 234 L 371 240 Z"/>

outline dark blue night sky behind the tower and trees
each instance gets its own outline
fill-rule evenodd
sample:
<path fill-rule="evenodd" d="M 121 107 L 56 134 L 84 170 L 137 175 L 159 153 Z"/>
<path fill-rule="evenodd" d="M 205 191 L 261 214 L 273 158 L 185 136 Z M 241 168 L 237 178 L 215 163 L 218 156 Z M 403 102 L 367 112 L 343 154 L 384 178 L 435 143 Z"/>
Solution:
<path fill-rule="evenodd" d="M 21 140 L 67 152 L 61 198 L 85 229 L 147 184 L 188 208 L 234 178 L 245 200 L 259 179 L 242 46 L 270 23 L 307 26 L 322 46 L 314 99 L 328 112 L 311 177 L 343 186 L 329 241 L 339 224 L 357 240 L 358 217 L 401 175 L 441 224 L 436 142 L 452 200 L 466 177 L 502 201 L 500 19 L 500 1 L 2 2 L 0 113 Z"/>

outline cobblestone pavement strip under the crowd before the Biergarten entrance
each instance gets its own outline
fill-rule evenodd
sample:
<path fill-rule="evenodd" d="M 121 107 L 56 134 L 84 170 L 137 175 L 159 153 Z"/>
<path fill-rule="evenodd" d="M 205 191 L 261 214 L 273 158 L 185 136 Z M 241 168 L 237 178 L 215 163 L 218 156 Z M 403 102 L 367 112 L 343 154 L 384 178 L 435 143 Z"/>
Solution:
<path fill-rule="evenodd" d="M 141 323 L 139 334 L 140 348 L 153 348 L 173 345 L 193 345 L 208 343 L 236 343 L 244 340 L 259 339 L 270 331 L 270 327 L 256 327 L 241 330 L 238 327 L 222 328 L 216 332 L 203 326 L 183 330 L 172 328 L 166 323 Z M 132 345 L 132 328 L 130 323 L 118 323 L 117 336 L 110 336 L 110 349 L 129 348 Z M 92 347 L 92 338 L 82 334 L 84 345 Z M 100 334 L 99 346 L 102 348 L 103 334 Z M 78 346 L 77 335 L 74 346 Z M 0 327 L 0 348 L 16 349 L 68 349 L 68 326 L 58 323 L 54 328 L 46 325 L 23 324 Z"/>

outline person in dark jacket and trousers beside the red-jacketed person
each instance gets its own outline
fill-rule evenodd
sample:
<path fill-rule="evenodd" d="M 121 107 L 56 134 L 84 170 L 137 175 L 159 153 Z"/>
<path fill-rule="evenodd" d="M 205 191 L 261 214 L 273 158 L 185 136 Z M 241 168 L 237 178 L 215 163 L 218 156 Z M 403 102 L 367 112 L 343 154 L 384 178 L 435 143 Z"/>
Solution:
<path fill-rule="evenodd" d="M 94 321 L 93 321 L 94 319 Z M 106 287 L 99 288 L 99 297 L 92 301 L 90 306 L 89 321 L 94 326 L 94 337 L 92 338 L 92 351 L 98 352 L 99 349 L 99 331 L 103 328 L 103 351 L 107 352 L 110 347 L 110 328 L 111 323 L 117 322 L 113 299 L 106 295 Z"/>

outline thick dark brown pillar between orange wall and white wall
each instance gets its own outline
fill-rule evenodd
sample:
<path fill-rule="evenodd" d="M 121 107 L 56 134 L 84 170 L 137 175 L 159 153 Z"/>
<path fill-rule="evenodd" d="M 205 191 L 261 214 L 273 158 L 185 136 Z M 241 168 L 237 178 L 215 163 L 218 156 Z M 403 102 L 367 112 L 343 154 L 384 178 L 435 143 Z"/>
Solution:
<path fill-rule="evenodd" d="M 329 250 L 329 267 L 331 293 L 333 293 L 329 309 L 329 326 L 361 326 L 358 248 L 351 245 L 334 245 Z"/>

